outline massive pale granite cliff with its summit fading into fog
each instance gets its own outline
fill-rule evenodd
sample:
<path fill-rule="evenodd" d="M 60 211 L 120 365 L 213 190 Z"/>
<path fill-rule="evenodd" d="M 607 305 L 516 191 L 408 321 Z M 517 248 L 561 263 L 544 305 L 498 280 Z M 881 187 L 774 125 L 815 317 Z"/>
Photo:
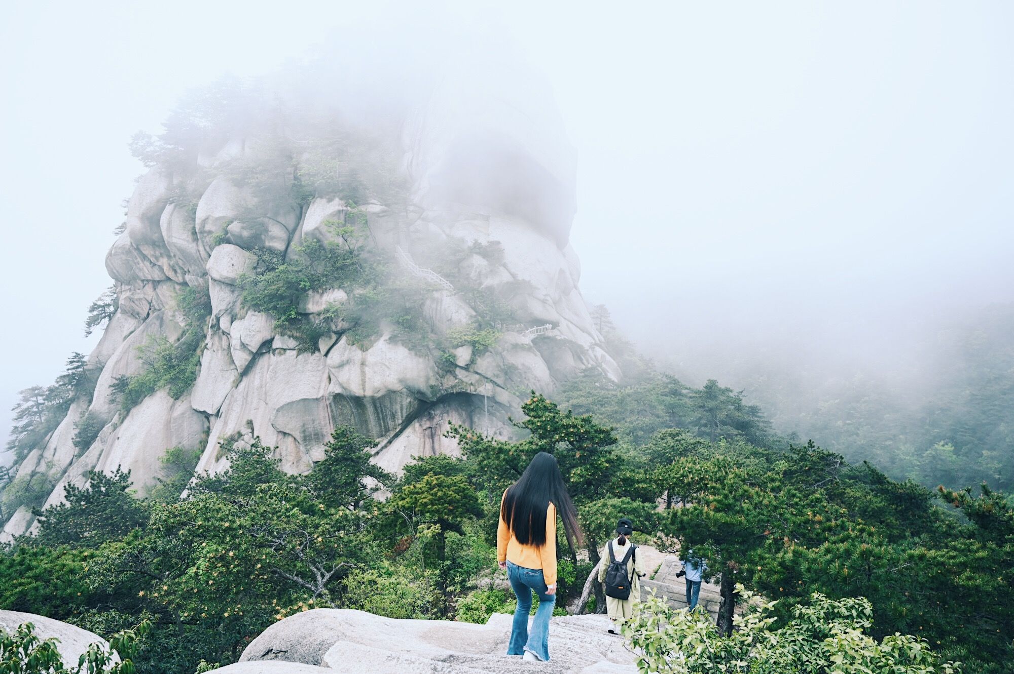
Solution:
<path fill-rule="evenodd" d="M 444 77 L 382 118 L 261 88 L 167 125 L 106 256 L 118 300 L 88 356 L 94 393 L 17 477 L 48 475 L 49 505 L 119 467 L 143 495 L 167 449 L 201 447 L 197 471 L 214 472 L 223 440 L 255 436 L 302 472 L 343 423 L 377 438 L 374 460 L 396 472 L 454 453 L 448 421 L 509 434 L 529 391 L 588 367 L 619 376 L 568 245 L 574 159 L 559 119 L 532 85 L 512 81 L 505 97 L 487 82 Z M 342 259 L 381 270 L 373 285 L 329 282 L 325 268 L 285 315 L 250 301 L 251 279 L 352 246 L 359 257 Z M 378 304 L 384 292 L 401 314 Z M 196 378 L 125 405 L 157 349 L 179 345 L 199 356 Z M 101 430 L 82 449 L 84 418 Z M 21 507 L 4 535 L 31 524 Z"/>

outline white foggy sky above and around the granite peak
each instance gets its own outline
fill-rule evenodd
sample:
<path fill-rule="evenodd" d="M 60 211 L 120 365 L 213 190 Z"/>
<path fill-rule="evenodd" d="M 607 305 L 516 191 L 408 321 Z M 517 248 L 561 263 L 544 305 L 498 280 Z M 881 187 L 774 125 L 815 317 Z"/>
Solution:
<path fill-rule="evenodd" d="M 1014 301 L 1008 4 L 410 7 L 5 6 L 0 435 L 97 337 L 131 136 L 193 87 L 353 35 L 382 47 L 378 77 L 421 45 L 540 73 L 577 150 L 585 298 L 689 383 L 791 369 L 805 397 L 932 368 L 927 331 Z"/>

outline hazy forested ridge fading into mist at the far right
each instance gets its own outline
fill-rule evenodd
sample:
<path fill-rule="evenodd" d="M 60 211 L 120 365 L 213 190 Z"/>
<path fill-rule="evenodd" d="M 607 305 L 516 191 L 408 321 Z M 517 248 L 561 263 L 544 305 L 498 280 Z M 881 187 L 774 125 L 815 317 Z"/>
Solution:
<path fill-rule="evenodd" d="M 734 382 L 787 437 L 812 438 L 850 461 L 928 487 L 985 482 L 1010 491 L 1014 305 L 936 319 L 919 334 L 875 367 L 741 353 L 705 369 Z"/>

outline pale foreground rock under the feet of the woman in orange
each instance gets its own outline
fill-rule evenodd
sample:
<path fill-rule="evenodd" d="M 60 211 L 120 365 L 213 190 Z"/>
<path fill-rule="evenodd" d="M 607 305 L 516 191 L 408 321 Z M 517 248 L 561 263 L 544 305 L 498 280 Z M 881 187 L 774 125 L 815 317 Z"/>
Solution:
<path fill-rule="evenodd" d="M 348 609 L 314 609 L 268 627 L 250 642 L 239 663 L 219 671 L 281 671 L 241 668 L 268 662 L 315 667 L 318 672 L 376 674 L 637 671 L 634 656 L 624 648 L 622 640 L 606 633 L 605 616 L 554 617 L 550 661 L 546 663 L 528 663 L 505 655 L 511 617 L 494 613 L 488 623 L 472 624 L 403 620 Z"/>

